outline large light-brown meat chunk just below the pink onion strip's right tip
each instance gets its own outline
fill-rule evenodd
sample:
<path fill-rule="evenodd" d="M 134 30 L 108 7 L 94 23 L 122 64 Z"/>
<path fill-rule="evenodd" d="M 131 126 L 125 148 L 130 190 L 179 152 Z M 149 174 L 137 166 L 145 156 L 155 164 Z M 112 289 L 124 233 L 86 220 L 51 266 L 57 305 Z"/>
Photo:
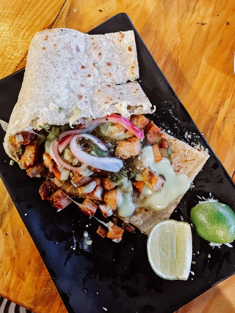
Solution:
<path fill-rule="evenodd" d="M 131 137 L 118 142 L 115 155 L 118 159 L 128 159 L 131 156 L 136 156 L 140 151 L 140 138 Z"/>

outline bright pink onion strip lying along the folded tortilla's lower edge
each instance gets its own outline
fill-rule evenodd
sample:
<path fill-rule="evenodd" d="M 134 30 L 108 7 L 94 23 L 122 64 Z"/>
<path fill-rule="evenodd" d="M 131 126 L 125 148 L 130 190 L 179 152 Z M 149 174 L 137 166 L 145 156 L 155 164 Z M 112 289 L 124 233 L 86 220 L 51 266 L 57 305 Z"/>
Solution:
<path fill-rule="evenodd" d="M 91 122 L 88 122 L 86 124 L 79 126 L 76 130 L 81 131 L 81 132 L 92 131 L 101 123 L 106 123 L 106 122 L 118 123 L 124 126 L 134 136 L 139 137 L 141 140 L 144 139 L 144 134 L 140 129 L 138 129 L 134 124 L 132 124 L 132 122 L 128 121 L 125 117 L 122 117 L 121 115 L 116 115 L 116 114 L 110 114 L 110 115 L 107 115 L 106 117 L 93 120 Z"/>

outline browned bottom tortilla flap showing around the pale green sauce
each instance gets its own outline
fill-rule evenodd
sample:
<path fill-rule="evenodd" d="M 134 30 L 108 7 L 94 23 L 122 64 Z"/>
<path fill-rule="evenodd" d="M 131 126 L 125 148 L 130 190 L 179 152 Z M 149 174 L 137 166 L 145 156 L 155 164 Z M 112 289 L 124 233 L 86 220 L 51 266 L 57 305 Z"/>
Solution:
<path fill-rule="evenodd" d="M 209 158 L 209 155 L 206 152 L 197 151 L 185 142 L 168 134 L 163 133 L 162 137 L 169 142 L 172 153 L 171 166 L 174 171 L 184 173 L 188 176 L 190 182 L 193 182 L 194 178 Z M 170 218 L 171 213 L 175 210 L 183 196 L 184 195 L 178 197 L 174 202 L 170 203 L 167 208 L 161 211 L 138 208 L 133 215 L 128 218 L 119 217 L 138 227 L 142 233 L 149 235 L 156 223 Z"/>

